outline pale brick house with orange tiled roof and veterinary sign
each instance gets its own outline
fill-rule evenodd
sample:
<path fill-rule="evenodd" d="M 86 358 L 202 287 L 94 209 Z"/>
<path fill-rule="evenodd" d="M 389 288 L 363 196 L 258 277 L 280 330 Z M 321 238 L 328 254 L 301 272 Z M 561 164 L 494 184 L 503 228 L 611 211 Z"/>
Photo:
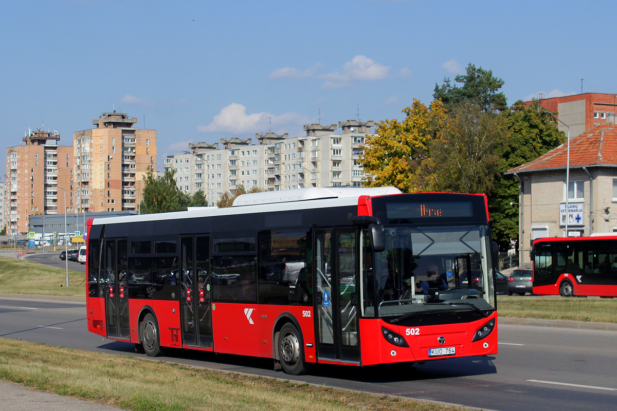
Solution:
<path fill-rule="evenodd" d="M 519 258 L 530 266 L 531 242 L 540 237 L 617 232 L 617 125 L 602 123 L 568 145 L 507 171 L 519 181 Z M 566 213 L 566 192 L 568 210 Z"/>

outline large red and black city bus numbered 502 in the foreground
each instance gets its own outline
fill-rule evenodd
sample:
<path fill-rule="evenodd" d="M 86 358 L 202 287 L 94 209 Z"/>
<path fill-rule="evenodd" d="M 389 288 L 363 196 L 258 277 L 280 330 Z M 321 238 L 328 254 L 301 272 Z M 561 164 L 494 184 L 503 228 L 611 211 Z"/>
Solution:
<path fill-rule="evenodd" d="M 91 219 L 88 330 L 149 356 L 272 358 L 292 375 L 495 354 L 492 250 L 486 196 L 393 187 Z"/>

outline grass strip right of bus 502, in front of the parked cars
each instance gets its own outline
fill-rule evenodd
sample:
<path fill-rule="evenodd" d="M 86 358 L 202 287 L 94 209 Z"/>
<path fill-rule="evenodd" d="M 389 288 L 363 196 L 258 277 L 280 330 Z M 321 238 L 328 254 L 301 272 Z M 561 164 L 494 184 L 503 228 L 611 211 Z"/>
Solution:
<path fill-rule="evenodd" d="M 617 322 L 617 298 L 497 296 L 500 317 Z"/>

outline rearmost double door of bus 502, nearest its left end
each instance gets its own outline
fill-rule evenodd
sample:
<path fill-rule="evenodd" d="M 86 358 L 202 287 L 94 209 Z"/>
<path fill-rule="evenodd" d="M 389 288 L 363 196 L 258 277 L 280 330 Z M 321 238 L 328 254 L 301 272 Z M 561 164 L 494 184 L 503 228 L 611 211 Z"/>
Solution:
<path fill-rule="evenodd" d="M 126 239 L 105 240 L 102 278 L 105 284 L 107 336 L 130 338 Z"/>

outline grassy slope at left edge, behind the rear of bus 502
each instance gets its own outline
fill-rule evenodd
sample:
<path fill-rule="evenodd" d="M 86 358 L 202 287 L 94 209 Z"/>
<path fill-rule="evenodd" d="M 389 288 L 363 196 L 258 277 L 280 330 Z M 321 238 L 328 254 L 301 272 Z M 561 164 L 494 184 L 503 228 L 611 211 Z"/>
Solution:
<path fill-rule="evenodd" d="M 38 262 L 0 257 L 0 293 L 86 296 L 86 275 Z"/>

